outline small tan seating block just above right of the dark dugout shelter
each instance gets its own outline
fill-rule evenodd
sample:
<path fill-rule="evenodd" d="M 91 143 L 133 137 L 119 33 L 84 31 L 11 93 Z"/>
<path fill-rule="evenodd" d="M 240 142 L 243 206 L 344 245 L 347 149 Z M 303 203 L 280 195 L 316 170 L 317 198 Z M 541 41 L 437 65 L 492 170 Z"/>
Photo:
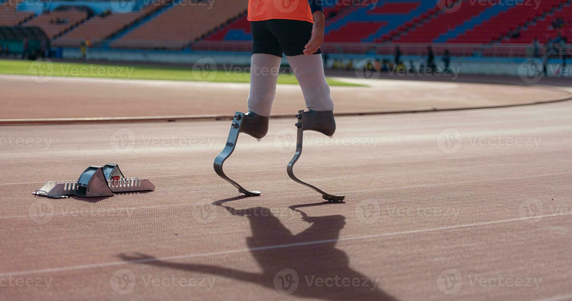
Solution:
<path fill-rule="evenodd" d="M 46 32 L 47 37 L 51 39 L 70 29 L 70 27 L 76 26 L 86 18 L 88 18 L 86 11 L 54 10 L 30 19 L 23 23 L 23 26 L 41 27 Z"/>

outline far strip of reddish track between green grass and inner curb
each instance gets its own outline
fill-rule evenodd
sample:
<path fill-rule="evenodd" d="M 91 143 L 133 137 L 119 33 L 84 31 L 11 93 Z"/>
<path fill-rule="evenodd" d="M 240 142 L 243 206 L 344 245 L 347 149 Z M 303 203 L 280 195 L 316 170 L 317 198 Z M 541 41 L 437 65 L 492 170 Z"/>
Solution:
<path fill-rule="evenodd" d="M 356 78 L 336 79 L 364 84 Z M 366 82 L 369 87 L 332 86 L 336 112 L 494 106 L 570 96 L 562 88 L 401 79 Z M 54 77 L 38 84 L 28 76 L 1 74 L 0 85 L 0 119 L 229 115 L 245 110 L 249 92 L 247 83 Z M 277 86 L 272 113 L 304 107 L 299 85 Z"/>

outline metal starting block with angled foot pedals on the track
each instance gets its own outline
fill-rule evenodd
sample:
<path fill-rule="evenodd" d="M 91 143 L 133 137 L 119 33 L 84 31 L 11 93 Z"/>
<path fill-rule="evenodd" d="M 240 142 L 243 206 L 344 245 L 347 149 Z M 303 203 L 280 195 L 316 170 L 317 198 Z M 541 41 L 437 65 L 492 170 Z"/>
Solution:
<path fill-rule="evenodd" d="M 49 181 L 32 194 L 63 199 L 70 195 L 113 196 L 116 192 L 150 190 L 155 190 L 155 185 L 148 179 L 125 177 L 117 164 L 105 164 L 103 167 L 88 167 L 78 180 Z"/>

